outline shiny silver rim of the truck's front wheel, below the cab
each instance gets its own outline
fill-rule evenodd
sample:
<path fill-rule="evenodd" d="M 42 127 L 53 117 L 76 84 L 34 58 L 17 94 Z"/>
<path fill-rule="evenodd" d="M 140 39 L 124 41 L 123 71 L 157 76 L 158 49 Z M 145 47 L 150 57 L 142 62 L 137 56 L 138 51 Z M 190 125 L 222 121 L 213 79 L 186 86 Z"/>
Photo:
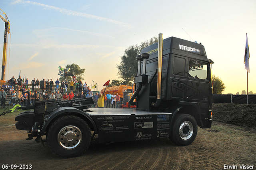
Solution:
<path fill-rule="evenodd" d="M 189 121 L 185 121 L 180 125 L 179 134 L 183 140 L 188 140 L 193 135 L 193 125 Z"/>

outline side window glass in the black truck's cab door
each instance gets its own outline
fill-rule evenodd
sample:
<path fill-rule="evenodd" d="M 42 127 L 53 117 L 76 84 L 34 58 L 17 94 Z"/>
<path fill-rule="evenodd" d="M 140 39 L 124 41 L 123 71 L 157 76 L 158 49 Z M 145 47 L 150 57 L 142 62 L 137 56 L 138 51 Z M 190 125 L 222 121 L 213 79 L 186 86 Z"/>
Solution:
<path fill-rule="evenodd" d="M 206 80 L 207 70 L 208 69 L 206 63 L 201 63 L 196 60 L 189 61 L 188 75 L 190 77 Z"/>

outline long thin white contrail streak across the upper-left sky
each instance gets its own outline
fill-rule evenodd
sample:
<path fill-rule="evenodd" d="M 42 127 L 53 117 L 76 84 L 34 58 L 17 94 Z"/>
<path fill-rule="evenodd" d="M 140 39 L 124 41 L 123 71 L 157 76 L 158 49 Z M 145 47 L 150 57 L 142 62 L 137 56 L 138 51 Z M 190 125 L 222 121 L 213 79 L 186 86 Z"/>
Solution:
<path fill-rule="evenodd" d="M 132 26 L 130 24 L 127 24 L 127 23 L 124 23 L 124 22 L 120 22 L 120 21 L 116 21 L 116 20 L 112 20 L 112 19 L 104 18 L 104 17 L 100 17 L 100 16 L 95 16 L 95 15 L 91 15 L 91 14 L 86 14 L 86 13 L 82 13 L 82 12 L 67 10 L 65 8 L 58 8 L 58 7 L 55 7 L 55 6 L 45 5 L 45 4 L 41 4 L 41 3 L 33 2 L 33 1 L 16 0 L 16 1 L 12 2 L 11 4 L 33 4 L 33 5 L 42 6 L 46 9 L 49 9 L 49 10 L 58 11 L 61 14 L 65 14 L 65 15 L 92 18 L 92 19 L 96 19 L 96 20 L 100 20 L 100 21 L 105 21 L 105 22 L 110 22 L 110 23 L 113 23 L 113 24 L 117 24 L 118 26 L 122 26 L 122 27 L 126 27 L 126 28 L 134 28 L 134 26 Z"/>

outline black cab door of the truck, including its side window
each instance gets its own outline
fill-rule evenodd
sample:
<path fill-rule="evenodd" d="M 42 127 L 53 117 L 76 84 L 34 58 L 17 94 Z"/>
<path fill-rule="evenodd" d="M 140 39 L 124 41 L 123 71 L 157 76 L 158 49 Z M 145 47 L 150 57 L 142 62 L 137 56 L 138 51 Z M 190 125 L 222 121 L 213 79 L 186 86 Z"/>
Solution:
<path fill-rule="evenodd" d="M 209 63 L 190 59 L 187 83 L 187 101 L 208 102 L 210 100 Z"/>

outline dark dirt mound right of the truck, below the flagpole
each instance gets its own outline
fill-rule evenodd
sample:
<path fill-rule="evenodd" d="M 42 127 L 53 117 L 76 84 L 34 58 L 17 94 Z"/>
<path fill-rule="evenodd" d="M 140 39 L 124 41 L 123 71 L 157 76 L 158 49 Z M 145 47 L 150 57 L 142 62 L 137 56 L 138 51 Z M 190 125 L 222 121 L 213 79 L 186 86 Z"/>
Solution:
<path fill-rule="evenodd" d="M 212 120 L 256 129 L 256 104 L 212 104 Z"/>

